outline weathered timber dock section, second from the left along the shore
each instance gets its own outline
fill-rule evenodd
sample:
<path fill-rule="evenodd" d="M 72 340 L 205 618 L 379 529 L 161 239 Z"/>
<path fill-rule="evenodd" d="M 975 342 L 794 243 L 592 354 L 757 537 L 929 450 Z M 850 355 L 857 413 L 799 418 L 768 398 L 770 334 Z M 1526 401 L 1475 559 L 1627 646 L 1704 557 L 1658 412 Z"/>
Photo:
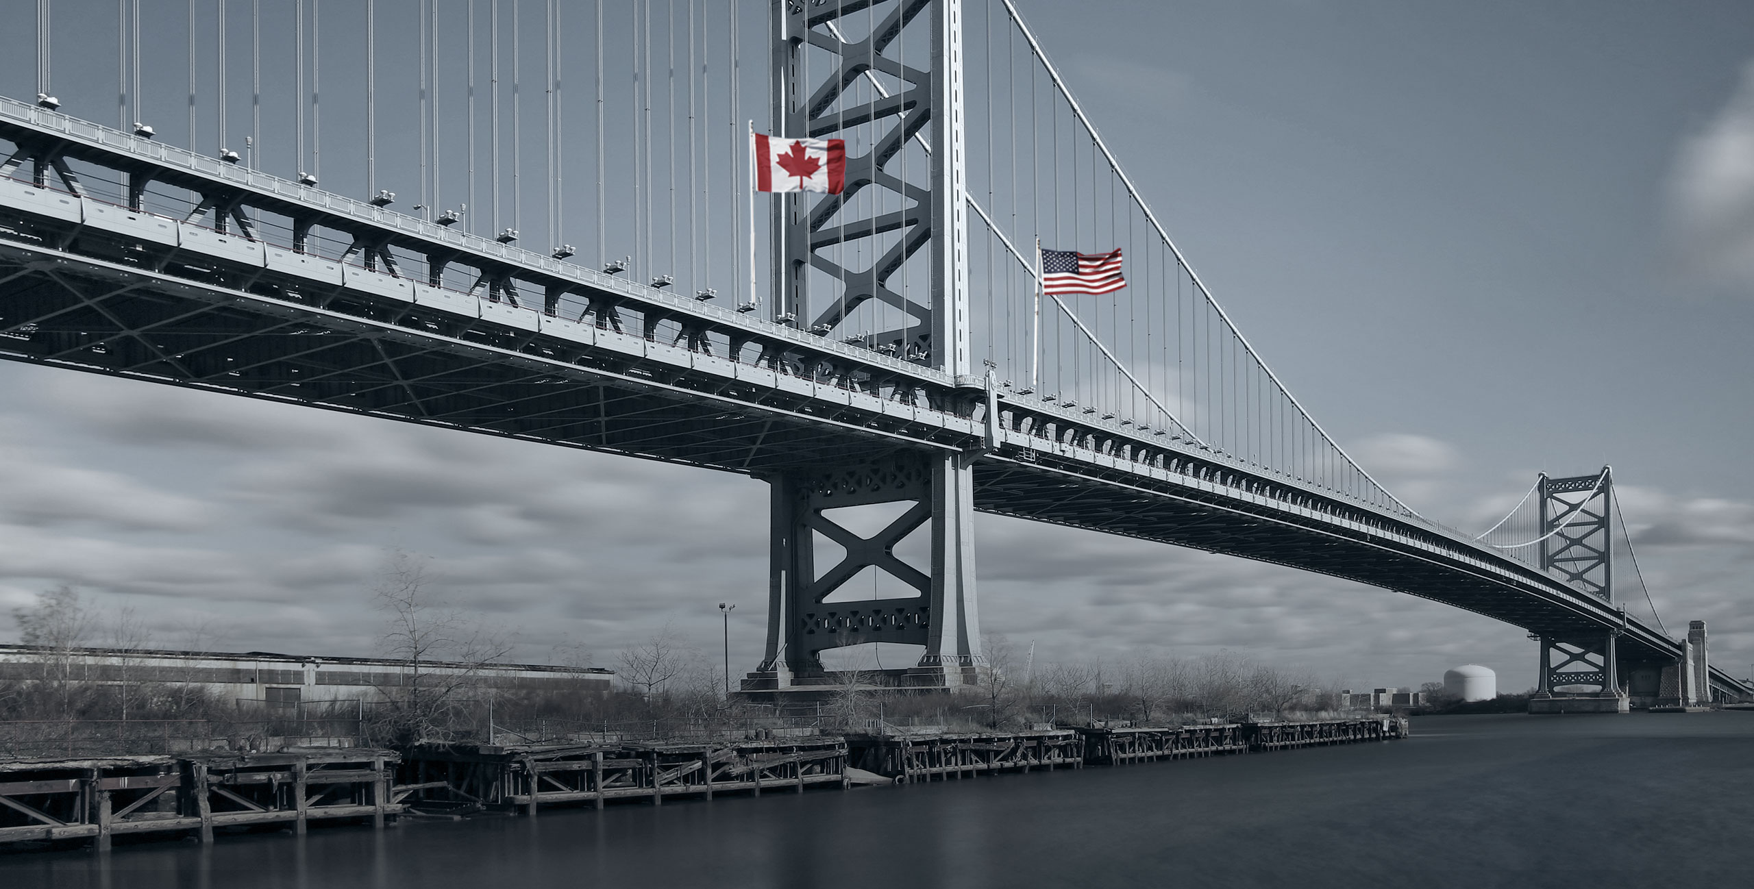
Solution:
<path fill-rule="evenodd" d="M 803 793 L 845 786 L 840 738 L 719 743 L 516 743 L 416 747 L 398 787 L 410 803 L 516 807 L 535 815 L 551 803 L 593 803 L 761 791 Z"/>

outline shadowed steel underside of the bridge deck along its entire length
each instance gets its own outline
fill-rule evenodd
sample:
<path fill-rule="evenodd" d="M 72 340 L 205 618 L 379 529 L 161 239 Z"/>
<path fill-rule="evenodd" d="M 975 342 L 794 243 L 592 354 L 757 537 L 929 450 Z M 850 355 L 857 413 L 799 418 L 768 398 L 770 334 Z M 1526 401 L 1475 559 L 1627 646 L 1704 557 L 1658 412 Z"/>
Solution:
<path fill-rule="evenodd" d="M 0 231 L 0 358 L 751 475 L 979 445 L 979 424 L 945 410 L 956 393 L 912 409 L 910 388 L 856 409 L 845 382 L 788 370 L 793 352 L 775 363 L 700 356 L 614 331 L 602 314 L 595 344 L 565 342 L 202 258 L 103 260 L 79 254 L 109 249 L 82 235 L 39 240 Z M 1608 626 L 1605 603 L 1430 528 L 1312 489 L 1275 494 L 1286 482 L 1191 452 L 1159 451 L 1173 454 L 1170 470 L 1149 451 L 1128 461 L 1065 447 L 1052 426 L 1065 421 L 1047 419 L 1047 438 L 1005 426 L 996 451 L 973 461 L 977 510 L 1359 580 L 1547 638 Z M 1679 649 L 1636 622 L 1621 645 L 1649 663 Z M 1733 680 L 1712 670 L 1712 682 Z"/>

